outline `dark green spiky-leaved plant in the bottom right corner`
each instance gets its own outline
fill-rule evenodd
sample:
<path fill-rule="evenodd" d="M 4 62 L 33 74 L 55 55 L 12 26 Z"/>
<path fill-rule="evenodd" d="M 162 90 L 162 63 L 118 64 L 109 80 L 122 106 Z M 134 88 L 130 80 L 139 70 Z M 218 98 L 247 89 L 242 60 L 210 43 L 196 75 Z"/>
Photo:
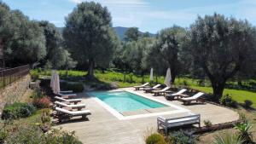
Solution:
<path fill-rule="evenodd" d="M 252 143 L 253 135 L 252 135 L 253 125 L 246 123 L 236 124 L 235 129 L 239 130 L 238 135 L 244 141 L 244 143 Z"/>

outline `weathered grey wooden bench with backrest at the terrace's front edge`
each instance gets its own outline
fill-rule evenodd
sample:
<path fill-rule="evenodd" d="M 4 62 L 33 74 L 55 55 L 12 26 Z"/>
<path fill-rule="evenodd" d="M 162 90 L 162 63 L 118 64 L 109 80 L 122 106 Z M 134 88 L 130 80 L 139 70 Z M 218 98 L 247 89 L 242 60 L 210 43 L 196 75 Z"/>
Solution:
<path fill-rule="evenodd" d="M 191 113 L 191 115 L 189 116 L 180 117 L 180 118 L 164 118 L 159 116 L 157 118 L 157 129 L 160 130 L 160 127 L 162 127 L 165 130 L 165 133 L 167 135 L 168 128 L 192 125 L 192 124 L 198 124 L 198 126 L 201 127 L 200 121 L 201 121 L 200 114 L 194 114 L 194 113 Z"/>

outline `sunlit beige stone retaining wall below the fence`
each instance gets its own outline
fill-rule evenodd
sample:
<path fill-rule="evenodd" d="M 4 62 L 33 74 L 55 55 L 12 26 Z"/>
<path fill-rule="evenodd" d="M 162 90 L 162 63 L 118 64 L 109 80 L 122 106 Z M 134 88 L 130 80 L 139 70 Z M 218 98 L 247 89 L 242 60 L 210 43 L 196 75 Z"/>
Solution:
<path fill-rule="evenodd" d="M 6 103 L 14 103 L 22 99 L 22 95 L 29 88 L 30 81 L 30 76 L 26 75 L 14 83 L 9 84 L 4 89 L 0 89 L 0 113 Z"/>

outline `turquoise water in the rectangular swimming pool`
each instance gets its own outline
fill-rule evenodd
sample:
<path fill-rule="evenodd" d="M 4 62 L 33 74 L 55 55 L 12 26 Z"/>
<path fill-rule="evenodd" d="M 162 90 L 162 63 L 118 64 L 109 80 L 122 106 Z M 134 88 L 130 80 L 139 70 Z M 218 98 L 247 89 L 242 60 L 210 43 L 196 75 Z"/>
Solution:
<path fill-rule="evenodd" d="M 140 109 L 167 107 L 157 101 L 152 101 L 143 96 L 135 95 L 126 91 L 117 92 L 90 92 L 89 95 L 96 96 L 108 106 L 118 112 L 136 111 Z"/>

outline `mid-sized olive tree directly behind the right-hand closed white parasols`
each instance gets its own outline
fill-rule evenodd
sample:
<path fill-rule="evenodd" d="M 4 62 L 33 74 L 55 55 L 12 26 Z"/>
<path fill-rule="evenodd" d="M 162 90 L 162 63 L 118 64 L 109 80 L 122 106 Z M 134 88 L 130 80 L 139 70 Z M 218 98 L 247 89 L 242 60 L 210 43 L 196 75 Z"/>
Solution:
<path fill-rule="evenodd" d="M 172 71 L 172 83 L 177 76 L 179 66 L 178 53 L 181 49 L 182 39 L 185 36 L 185 30 L 179 26 L 172 26 L 161 30 L 157 34 L 157 40 L 148 52 L 148 64 L 164 72 L 168 67 Z"/>

